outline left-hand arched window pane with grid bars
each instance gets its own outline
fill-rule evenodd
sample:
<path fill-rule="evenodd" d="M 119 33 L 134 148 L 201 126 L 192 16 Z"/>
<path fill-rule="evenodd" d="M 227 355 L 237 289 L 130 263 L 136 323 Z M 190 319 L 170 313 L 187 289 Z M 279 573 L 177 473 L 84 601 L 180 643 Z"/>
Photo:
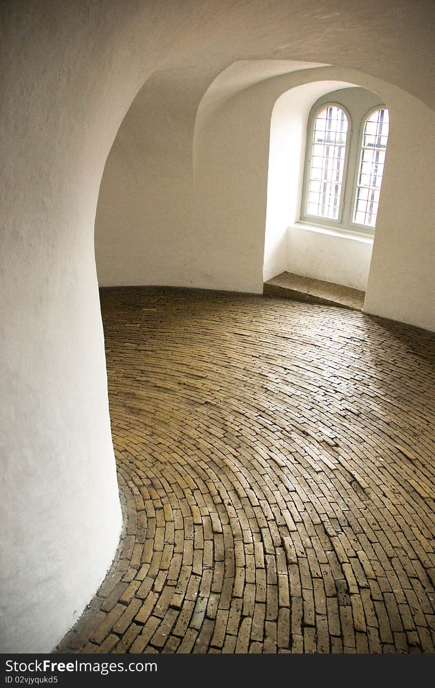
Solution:
<path fill-rule="evenodd" d="M 347 136 L 346 114 L 341 108 L 328 105 L 319 113 L 315 122 L 308 184 L 308 215 L 330 219 L 339 217 Z"/>

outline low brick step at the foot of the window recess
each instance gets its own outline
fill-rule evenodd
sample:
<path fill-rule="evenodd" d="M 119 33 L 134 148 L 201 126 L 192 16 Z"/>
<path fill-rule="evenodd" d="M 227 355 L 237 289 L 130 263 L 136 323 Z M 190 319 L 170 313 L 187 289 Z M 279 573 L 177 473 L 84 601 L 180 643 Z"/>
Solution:
<path fill-rule="evenodd" d="M 263 294 L 293 299 L 293 301 L 306 301 L 306 303 L 336 305 L 352 310 L 363 310 L 365 298 L 365 292 L 359 289 L 343 287 L 335 282 L 325 282 L 303 275 L 294 275 L 293 272 L 282 272 L 269 279 L 263 285 Z"/>

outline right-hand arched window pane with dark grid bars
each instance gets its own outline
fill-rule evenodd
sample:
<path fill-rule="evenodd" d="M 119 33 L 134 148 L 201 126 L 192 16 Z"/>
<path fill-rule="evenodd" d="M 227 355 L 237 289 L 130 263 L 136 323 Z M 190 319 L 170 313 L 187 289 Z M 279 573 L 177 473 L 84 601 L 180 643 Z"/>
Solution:
<path fill-rule="evenodd" d="M 370 227 L 375 226 L 378 213 L 389 121 L 387 109 L 376 110 L 363 132 L 353 221 Z"/>

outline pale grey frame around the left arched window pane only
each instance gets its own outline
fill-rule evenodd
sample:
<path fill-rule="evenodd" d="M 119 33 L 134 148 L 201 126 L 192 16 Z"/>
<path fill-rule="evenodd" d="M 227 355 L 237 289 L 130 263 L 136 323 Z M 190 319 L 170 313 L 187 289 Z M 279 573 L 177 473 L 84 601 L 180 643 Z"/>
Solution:
<path fill-rule="evenodd" d="M 307 212 L 308 208 L 308 197 L 310 189 L 310 171 L 311 171 L 311 160 L 312 151 L 314 148 L 314 133 L 317 118 L 323 110 L 328 109 L 328 107 L 338 107 L 343 110 L 344 114 L 348 118 L 348 130 L 346 132 L 346 150 L 344 153 L 344 164 L 343 164 L 343 179 L 341 182 L 341 193 L 339 199 L 339 213 L 336 219 L 331 217 L 322 217 L 321 215 L 309 215 Z M 343 208 L 344 208 L 344 195 L 346 187 L 346 178 L 348 171 L 348 161 L 349 161 L 349 149 L 350 149 L 350 138 L 352 135 L 352 119 L 350 117 L 348 109 L 341 105 L 341 103 L 336 103 L 335 101 L 330 101 L 328 103 L 323 103 L 319 105 L 315 110 L 311 110 L 308 116 L 308 126 L 307 126 L 307 139 L 306 139 L 306 155 L 305 155 L 305 165 L 304 165 L 304 181 L 302 189 L 302 204 L 301 204 L 301 220 L 303 222 L 309 222 L 310 224 L 324 224 L 328 227 L 336 227 L 337 224 L 342 224 Z"/>

